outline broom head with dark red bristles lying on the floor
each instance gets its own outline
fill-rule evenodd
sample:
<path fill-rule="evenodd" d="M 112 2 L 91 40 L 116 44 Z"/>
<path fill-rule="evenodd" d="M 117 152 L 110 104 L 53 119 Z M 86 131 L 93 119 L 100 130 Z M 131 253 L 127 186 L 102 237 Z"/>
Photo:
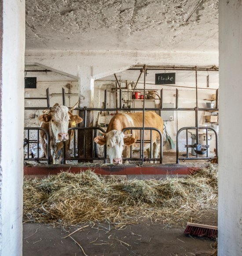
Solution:
<path fill-rule="evenodd" d="M 218 237 L 218 227 L 188 222 L 184 234 L 215 239 Z"/>

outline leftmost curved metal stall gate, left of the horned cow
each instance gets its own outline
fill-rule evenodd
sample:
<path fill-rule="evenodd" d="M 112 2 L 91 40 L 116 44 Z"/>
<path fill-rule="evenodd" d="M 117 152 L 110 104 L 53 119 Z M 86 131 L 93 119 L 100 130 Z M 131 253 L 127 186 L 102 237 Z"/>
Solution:
<path fill-rule="evenodd" d="M 28 133 L 28 154 L 27 154 L 27 158 L 24 158 L 25 161 L 36 161 L 36 160 L 43 160 L 43 161 L 48 161 L 48 163 L 50 163 L 50 154 L 49 154 L 49 149 L 50 149 L 50 140 L 49 140 L 49 134 L 48 134 L 48 131 L 42 127 L 24 127 L 24 130 L 27 130 L 27 133 Z M 29 140 L 29 130 L 37 130 L 38 131 L 38 135 L 37 135 L 37 140 Z M 47 156 L 46 157 L 43 157 L 43 158 L 39 158 L 39 131 L 40 130 L 43 130 L 44 133 L 46 134 L 47 136 Z M 29 158 L 29 144 L 36 144 L 37 143 L 37 159 L 36 158 Z"/>

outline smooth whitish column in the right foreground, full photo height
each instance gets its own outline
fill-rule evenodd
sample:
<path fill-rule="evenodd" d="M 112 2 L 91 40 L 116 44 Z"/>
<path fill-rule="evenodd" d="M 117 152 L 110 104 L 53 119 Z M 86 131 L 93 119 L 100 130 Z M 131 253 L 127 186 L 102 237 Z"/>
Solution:
<path fill-rule="evenodd" d="M 219 1 L 219 256 L 242 255 L 242 2 Z"/>

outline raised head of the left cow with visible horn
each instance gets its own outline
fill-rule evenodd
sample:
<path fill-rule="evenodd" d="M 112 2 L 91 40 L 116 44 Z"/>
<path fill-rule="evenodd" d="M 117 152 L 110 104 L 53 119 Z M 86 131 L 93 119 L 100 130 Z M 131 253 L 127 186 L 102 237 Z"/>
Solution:
<path fill-rule="evenodd" d="M 50 123 L 51 134 L 53 133 L 56 143 L 66 141 L 69 139 L 68 128 L 69 123 L 82 122 L 82 118 L 78 115 L 72 115 L 70 111 L 75 109 L 78 105 L 75 104 L 72 108 L 56 103 L 52 108 L 43 110 L 43 115 L 40 115 L 39 120 L 41 122 Z"/>

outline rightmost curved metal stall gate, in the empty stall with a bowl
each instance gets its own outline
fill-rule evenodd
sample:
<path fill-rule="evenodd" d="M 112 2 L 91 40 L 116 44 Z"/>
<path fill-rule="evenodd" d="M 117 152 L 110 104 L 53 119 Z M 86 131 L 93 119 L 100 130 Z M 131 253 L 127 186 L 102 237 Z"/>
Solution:
<path fill-rule="evenodd" d="M 215 157 L 203 157 L 203 156 L 198 156 L 197 157 L 179 157 L 179 135 L 183 130 L 197 130 L 197 129 L 206 129 L 206 130 L 212 130 L 215 134 L 216 138 L 216 156 Z M 207 132 L 206 132 L 207 134 Z M 190 146 L 190 145 L 187 145 Z M 192 146 L 192 145 L 191 145 Z M 204 127 L 204 126 L 199 126 L 199 127 L 183 127 L 180 130 L 178 130 L 176 134 L 176 163 L 179 163 L 179 160 L 212 160 L 212 159 L 218 159 L 218 134 L 216 130 L 213 127 Z"/>

